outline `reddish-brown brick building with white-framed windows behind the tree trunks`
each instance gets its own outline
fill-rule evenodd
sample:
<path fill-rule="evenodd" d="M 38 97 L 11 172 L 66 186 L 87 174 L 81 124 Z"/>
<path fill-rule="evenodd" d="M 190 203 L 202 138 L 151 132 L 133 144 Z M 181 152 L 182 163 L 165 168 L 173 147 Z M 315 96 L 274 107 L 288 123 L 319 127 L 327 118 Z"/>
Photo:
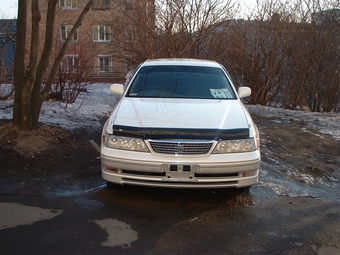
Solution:
<path fill-rule="evenodd" d="M 52 56 L 56 56 L 87 2 L 88 0 L 59 0 Z M 39 45 L 41 52 L 47 1 L 39 1 L 39 5 L 42 17 Z M 28 11 L 30 13 L 30 10 Z M 130 53 L 121 49 L 119 45 L 122 41 L 130 43 L 134 38 L 136 21 L 133 17 L 143 15 L 149 17 L 149 22 L 154 22 L 152 13 L 154 0 L 94 0 L 91 10 L 72 39 L 61 66 L 64 70 L 72 72 L 81 70 L 95 82 L 125 80 L 130 69 L 127 61 Z M 27 37 L 29 41 L 30 28 L 27 29 Z"/>

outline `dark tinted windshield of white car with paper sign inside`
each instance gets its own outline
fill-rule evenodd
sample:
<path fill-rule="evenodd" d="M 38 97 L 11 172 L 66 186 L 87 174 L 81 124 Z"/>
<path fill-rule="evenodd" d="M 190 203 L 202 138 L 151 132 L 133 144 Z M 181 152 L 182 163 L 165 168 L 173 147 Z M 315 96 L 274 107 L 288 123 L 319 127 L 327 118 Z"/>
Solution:
<path fill-rule="evenodd" d="M 127 92 L 128 97 L 235 99 L 220 68 L 201 66 L 142 67 Z"/>

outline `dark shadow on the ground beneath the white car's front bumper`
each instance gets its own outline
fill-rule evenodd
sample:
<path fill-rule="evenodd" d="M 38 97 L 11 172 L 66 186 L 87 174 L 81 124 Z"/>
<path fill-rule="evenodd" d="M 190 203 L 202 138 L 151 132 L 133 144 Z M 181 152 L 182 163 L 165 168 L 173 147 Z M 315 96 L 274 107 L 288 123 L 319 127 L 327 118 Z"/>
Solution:
<path fill-rule="evenodd" d="M 117 185 L 100 190 L 92 198 L 107 204 L 151 210 L 217 210 L 254 204 L 247 189 L 168 189 Z"/>

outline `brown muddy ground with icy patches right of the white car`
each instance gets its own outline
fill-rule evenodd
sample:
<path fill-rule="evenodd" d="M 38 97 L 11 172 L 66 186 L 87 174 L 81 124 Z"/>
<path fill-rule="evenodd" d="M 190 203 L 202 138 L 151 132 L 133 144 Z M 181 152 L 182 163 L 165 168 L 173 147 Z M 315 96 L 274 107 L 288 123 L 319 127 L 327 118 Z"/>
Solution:
<path fill-rule="evenodd" d="M 339 140 L 307 128 L 303 120 L 280 120 L 279 117 L 259 115 L 253 115 L 253 118 L 260 130 L 263 162 L 289 164 L 300 173 L 315 178 L 339 176 Z"/>

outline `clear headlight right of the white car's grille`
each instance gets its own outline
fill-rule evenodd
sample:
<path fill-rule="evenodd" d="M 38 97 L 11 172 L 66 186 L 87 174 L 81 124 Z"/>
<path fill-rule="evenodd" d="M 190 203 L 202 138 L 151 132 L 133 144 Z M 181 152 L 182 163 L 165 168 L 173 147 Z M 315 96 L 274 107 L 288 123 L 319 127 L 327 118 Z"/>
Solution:
<path fill-rule="evenodd" d="M 257 148 L 254 138 L 240 140 L 222 140 L 216 145 L 213 154 L 249 152 Z"/>

